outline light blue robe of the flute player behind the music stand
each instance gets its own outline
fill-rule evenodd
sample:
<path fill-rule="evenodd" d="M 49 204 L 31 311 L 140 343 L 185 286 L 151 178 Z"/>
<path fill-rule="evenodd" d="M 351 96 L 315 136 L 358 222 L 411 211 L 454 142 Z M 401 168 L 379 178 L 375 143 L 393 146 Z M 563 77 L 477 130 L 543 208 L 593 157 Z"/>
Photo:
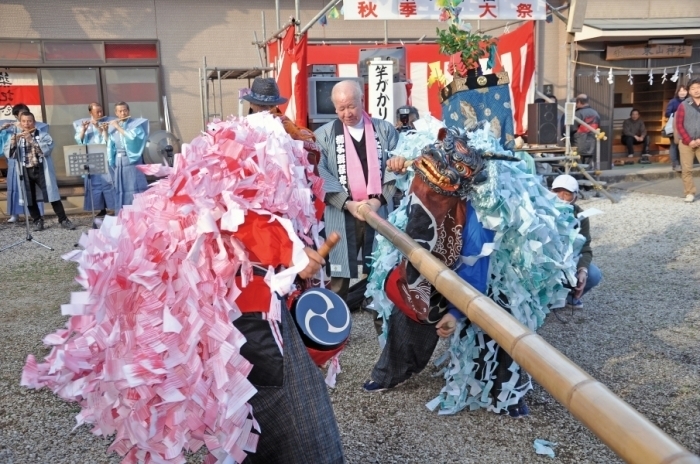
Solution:
<path fill-rule="evenodd" d="M 115 119 L 111 116 L 105 116 L 99 121 L 101 123 L 108 123 Z M 78 119 L 73 121 L 73 130 L 75 130 L 75 143 L 78 145 L 92 145 L 98 144 L 103 145 L 107 143 L 104 135 L 95 127 L 94 124 L 90 124 L 85 130 L 85 136 L 81 139 L 80 134 L 83 129 L 83 122 L 91 121 L 90 118 Z M 106 154 L 105 154 L 106 155 Z M 107 172 L 104 174 L 95 174 L 90 176 L 90 183 L 92 189 L 92 198 L 90 195 L 90 189 L 88 188 L 87 176 L 85 176 L 85 197 L 83 199 L 83 210 L 91 211 L 93 208 L 96 210 L 103 209 L 114 209 L 114 185 L 112 184 L 113 173 L 112 167 L 107 163 Z"/>

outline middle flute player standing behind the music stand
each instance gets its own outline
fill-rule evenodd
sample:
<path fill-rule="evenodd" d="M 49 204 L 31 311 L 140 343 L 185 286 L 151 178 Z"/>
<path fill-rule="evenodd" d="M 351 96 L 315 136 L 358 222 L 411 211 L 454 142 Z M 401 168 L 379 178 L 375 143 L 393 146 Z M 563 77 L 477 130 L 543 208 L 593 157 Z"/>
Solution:
<path fill-rule="evenodd" d="M 88 105 L 90 117 L 78 119 L 73 122 L 75 129 L 75 143 L 78 145 L 104 145 L 107 143 L 107 123 L 113 118 L 106 117 L 102 105 L 97 102 Z M 89 187 L 89 188 L 88 188 Z M 109 172 L 90 176 L 88 185 L 85 176 L 85 198 L 83 209 L 85 211 L 99 210 L 97 216 L 107 214 L 107 208 L 114 209 L 114 188 L 112 175 Z"/>

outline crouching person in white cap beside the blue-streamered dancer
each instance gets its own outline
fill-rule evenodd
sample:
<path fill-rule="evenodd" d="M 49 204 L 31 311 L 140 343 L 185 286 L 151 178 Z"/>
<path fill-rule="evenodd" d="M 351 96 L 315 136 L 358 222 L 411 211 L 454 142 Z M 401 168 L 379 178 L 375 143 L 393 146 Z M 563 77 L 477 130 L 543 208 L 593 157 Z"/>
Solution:
<path fill-rule="evenodd" d="M 578 182 L 572 176 L 563 174 L 557 176 L 552 182 L 552 192 L 556 193 L 561 201 L 574 207 L 574 215 L 579 217 L 583 209 L 576 204 L 578 198 Z M 598 266 L 593 264 L 593 249 L 591 248 L 591 225 L 587 217 L 580 220 L 579 234 L 583 235 L 586 242 L 581 248 L 581 255 L 576 266 L 577 285 L 567 298 L 569 305 L 575 309 L 582 309 L 581 298 L 603 279 L 603 274 Z"/>

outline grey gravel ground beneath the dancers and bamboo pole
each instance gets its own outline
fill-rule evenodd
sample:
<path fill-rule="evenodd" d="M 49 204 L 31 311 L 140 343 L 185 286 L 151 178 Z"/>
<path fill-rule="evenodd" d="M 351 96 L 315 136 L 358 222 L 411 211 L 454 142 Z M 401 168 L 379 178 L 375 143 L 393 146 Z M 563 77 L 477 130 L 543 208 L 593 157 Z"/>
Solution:
<path fill-rule="evenodd" d="M 550 316 L 540 334 L 688 449 L 700 454 L 700 202 L 623 194 L 616 205 L 582 202 L 605 215 L 592 221 L 594 261 L 603 283 L 585 309 Z M 89 218 L 72 218 L 83 230 Z M 19 386 L 28 353 L 48 353 L 44 335 L 62 326 L 59 305 L 76 289 L 72 263 L 80 231 L 53 221 L 35 234 L 56 251 L 24 243 L 0 254 L 0 463 L 116 463 L 110 439 L 86 426 L 71 431 L 79 408 L 49 391 Z M 0 225 L 0 247 L 24 238 Z M 563 463 L 619 462 L 539 386 L 532 415 L 513 420 L 484 411 L 438 417 L 424 404 L 442 387 L 431 368 L 397 390 L 365 394 L 361 385 L 379 355 L 371 317 L 354 314 L 343 373 L 331 398 L 350 463 L 549 462 L 533 441 L 557 442 Z M 188 462 L 201 462 L 201 453 Z"/>

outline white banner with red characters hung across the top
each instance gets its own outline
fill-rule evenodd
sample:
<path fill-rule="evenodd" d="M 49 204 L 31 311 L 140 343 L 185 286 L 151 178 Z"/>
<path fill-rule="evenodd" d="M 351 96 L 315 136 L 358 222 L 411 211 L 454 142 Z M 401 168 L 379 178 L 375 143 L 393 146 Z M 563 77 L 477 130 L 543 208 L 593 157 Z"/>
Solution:
<path fill-rule="evenodd" d="M 343 0 L 345 19 L 432 19 L 440 18 L 435 0 Z M 464 0 L 460 19 L 546 19 L 546 0 Z"/>

